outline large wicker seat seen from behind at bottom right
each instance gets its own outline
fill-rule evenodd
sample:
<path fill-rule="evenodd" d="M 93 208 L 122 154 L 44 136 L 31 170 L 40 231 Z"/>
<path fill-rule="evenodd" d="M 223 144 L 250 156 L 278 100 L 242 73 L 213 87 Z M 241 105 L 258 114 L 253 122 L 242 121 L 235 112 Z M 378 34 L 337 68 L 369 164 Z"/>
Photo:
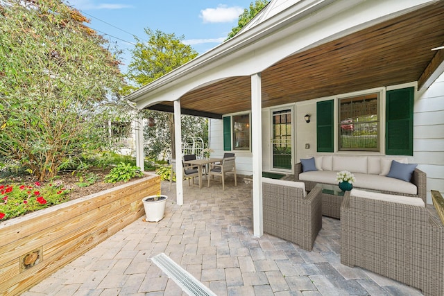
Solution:
<path fill-rule="evenodd" d="M 341 205 L 341 263 L 444 295 L 444 226 L 436 210 L 353 195 L 346 192 Z"/>

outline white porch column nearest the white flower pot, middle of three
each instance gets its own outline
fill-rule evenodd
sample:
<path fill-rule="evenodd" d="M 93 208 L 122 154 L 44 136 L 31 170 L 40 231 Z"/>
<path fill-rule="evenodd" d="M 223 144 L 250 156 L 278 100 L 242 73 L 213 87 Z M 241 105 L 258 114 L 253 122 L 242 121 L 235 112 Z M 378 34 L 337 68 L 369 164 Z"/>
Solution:
<path fill-rule="evenodd" d="M 180 125 L 180 100 L 174 101 L 174 139 L 176 141 L 176 199 L 183 204 L 182 126 Z"/>

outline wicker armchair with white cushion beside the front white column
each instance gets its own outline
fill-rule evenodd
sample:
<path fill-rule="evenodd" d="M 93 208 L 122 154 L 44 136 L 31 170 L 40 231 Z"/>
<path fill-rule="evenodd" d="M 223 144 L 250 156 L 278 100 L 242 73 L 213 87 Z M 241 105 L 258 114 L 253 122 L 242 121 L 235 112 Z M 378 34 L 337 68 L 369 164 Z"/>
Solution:
<path fill-rule="evenodd" d="M 262 180 L 264 232 L 311 251 L 322 227 L 321 188 L 308 195 L 301 182 Z"/>

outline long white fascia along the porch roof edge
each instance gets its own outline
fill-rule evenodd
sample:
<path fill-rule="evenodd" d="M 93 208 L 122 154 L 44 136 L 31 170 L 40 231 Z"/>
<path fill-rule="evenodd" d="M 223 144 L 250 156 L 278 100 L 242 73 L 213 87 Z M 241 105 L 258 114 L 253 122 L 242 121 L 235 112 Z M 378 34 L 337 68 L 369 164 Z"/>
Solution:
<path fill-rule="evenodd" d="M 126 98 L 139 109 L 174 101 L 197 87 L 232 76 L 250 76 L 288 55 L 436 1 L 298 1 Z"/>

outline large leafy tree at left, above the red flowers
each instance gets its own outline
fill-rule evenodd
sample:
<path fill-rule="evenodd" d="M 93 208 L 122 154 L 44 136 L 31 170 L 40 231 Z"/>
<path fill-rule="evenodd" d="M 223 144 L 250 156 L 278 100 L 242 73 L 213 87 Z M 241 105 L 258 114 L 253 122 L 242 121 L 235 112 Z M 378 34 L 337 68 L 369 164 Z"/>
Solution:
<path fill-rule="evenodd" d="M 85 21 L 61 0 L 0 1 L 0 155 L 40 180 L 105 145 L 119 103 L 118 53 Z"/>

